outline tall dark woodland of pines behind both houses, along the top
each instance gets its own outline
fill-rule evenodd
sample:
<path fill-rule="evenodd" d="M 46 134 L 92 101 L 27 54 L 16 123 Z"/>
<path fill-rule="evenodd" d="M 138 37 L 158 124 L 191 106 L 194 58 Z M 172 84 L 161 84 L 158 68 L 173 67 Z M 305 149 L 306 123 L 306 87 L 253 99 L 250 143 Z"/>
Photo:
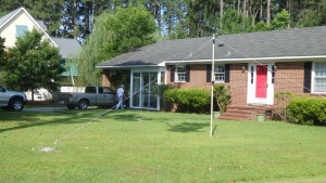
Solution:
<path fill-rule="evenodd" d="M 52 36 L 83 42 L 95 16 L 134 5 L 146 6 L 170 39 L 275 29 L 273 21 L 284 10 L 287 28 L 326 25 L 326 0 L 2 0 L 0 16 L 25 6 Z"/>

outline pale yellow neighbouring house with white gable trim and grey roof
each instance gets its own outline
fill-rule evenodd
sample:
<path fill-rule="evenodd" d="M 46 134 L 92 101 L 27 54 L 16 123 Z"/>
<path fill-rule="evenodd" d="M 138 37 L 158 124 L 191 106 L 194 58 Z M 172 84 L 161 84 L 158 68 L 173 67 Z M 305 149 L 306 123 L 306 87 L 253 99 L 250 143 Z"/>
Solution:
<path fill-rule="evenodd" d="M 74 65 L 67 65 L 66 60 L 78 53 L 80 44 L 77 40 L 50 37 L 46 31 L 47 26 L 43 22 L 35 19 L 24 8 L 16 9 L 0 17 L 0 36 L 5 38 L 4 45 L 7 48 L 14 47 L 18 37 L 24 36 L 26 31 L 30 31 L 34 28 L 43 34 L 43 39 L 47 39 L 52 45 L 59 48 L 62 64 L 67 69 L 62 76 L 70 78 L 70 82 L 74 84 L 74 77 L 77 76 L 77 69 Z"/>

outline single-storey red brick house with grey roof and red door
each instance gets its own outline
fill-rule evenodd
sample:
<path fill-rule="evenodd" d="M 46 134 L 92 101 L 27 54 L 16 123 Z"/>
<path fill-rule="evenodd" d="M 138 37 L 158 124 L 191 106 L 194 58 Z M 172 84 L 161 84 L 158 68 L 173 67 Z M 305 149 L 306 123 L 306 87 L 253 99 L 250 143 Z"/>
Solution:
<path fill-rule="evenodd" d="M 326 26 L 224 35 L 214 44 L 214 83 L 229 87 L 233 106 L 273 106 L 274 95 L 326 94 Z M 212 37 L 166 40 L 98 65 L 103 84 L 110 70 L 130 70 L 130 107 L 153 105 L 156 83 L 211 88 Z M 140 92 L 138 92 L 138 90 Z M 133 94 L 136 93 L 136 94 Z"/>

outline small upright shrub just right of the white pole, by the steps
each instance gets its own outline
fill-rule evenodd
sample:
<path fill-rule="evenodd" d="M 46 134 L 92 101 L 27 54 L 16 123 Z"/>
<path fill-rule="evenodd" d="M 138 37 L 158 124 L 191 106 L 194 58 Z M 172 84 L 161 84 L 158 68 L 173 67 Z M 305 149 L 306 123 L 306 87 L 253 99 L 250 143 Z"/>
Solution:
<path fill-rule="evenodd" d="M 228 88 L 223 83 L 214 84 L 214 97 L 221 112 L 225 112 L 227 105 L 230 103 L 230 94 Z"/>

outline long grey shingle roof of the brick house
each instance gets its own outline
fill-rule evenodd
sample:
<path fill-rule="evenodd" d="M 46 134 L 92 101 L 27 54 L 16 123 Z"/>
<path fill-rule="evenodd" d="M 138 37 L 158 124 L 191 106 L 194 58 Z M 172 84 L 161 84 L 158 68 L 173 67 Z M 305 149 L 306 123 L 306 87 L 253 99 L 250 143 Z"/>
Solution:
<path fill-rule="evenodd" d="M 215 61 L 246 62 L 326 58 L 326 26 L 223 35 L 216 38 Z M 224 47 L 218 47 L 218 44 Z M 158 66 L 174 62 L 212 61 L 212 37 L 165 40 L 125 53 L 99 68 Z"/>

